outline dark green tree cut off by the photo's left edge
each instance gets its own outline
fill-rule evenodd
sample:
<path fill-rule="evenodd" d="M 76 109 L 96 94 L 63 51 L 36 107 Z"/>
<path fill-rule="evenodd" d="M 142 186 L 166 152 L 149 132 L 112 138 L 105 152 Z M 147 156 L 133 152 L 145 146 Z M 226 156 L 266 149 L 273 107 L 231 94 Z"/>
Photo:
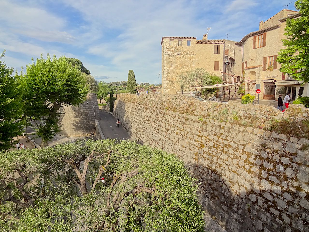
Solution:
<path fill-rule="evenodd" d="M 4 57 L 5 51 L 0 54 Z M 12 147 L 13 137 L 21 135 L 23 104 L 21 101 L 18 75 L 13 76 L 13 68 L 0 60 L 0 151 Z"/>

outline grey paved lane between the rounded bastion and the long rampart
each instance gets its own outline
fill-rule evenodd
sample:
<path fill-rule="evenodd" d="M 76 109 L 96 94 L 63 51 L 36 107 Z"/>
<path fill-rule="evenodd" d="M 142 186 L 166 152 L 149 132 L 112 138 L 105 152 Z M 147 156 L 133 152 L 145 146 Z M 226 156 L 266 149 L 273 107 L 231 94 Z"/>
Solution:
<path fill-rule="evenodd" d="M 104 137 L 110 139 L 130 140 L 130 135 L 121 127 L 116 127 L 116 118 L 111 114 L 100 111 L 101 120 L 99 121 Z"/>

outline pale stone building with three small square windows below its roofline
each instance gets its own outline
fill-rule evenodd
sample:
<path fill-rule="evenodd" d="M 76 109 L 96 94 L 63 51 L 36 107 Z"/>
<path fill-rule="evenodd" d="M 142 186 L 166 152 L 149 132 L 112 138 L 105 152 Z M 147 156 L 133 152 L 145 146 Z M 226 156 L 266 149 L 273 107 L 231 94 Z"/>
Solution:
<path fill-rule="evenodd" d="M 202 40 L 163 37 L 161 45 L 163 93 L 179 92 L 178 76 L 192 68 L 205 68 L 225 81 L 229 76 L 241 75 L 241 46 L 235 41 L 208 40 L 205 34 Z"/>

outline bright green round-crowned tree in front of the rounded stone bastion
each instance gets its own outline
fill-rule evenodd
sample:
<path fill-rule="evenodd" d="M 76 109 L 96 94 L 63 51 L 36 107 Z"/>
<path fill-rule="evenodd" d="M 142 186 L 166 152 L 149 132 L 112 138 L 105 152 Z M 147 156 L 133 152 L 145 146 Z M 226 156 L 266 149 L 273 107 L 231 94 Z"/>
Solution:
<path fill-rule="evenodd" d="M 66 61 L 66 57 L 47 59 L 41 55 L 36 63 L 27 65 L 27 75 L 23 76 L 22 83 L 27 98 L 40 99 L 32 109 L 40 109 L 41 123 L 36 128 L 37 135 L 42 138 L 41 146 L 48 145 L 54 135 L 59 131 L 59 114 L 61 106 L 74 105 L 84 101 L 88 88 L 85 79 L 77 67 L 73 67 Z M 30 107 L 30 106 L 29 106 Z"/>

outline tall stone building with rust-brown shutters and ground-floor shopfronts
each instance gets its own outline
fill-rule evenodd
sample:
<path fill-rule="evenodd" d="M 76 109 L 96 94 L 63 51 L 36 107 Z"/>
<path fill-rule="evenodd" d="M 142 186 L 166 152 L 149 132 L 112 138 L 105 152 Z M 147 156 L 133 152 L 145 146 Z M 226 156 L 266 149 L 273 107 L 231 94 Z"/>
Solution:
<path fill-rule="evenodd" d="M 249 93 L 261 89 L 260 97 L 263 99 L 277 98 L 276 90 L 285 88 L 291 93 L 292 101 L 298 95 L 309 96 L 308 85 L 291 79 L 279 71 L 281 65 L 276 62 L 278 52 L 283 49 L 281 40 L 285 39 L 284 28 L 287 18 L 299 17 L 297 11 L 284 9 L 266 20 L 261 21 L 259 30 L 244 36 L 239 42 L 243 46 L 242 70 L 248 84 Z"/>

